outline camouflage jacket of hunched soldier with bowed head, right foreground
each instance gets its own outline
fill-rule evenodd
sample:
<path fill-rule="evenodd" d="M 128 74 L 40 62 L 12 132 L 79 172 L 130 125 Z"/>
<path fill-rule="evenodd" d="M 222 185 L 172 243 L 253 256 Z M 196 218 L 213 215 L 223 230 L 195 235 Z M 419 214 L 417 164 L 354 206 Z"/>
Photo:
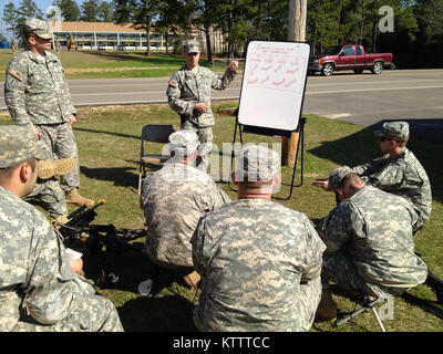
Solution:
<path fill-rule="evenodd" d="M 365 186 L 331 210 L 319 235 L 324 253 L 344 250 L 362 278 L 388 288 L 411 288 L 427 277 L 426 264 L 414 253 L 415 222 L 409 200 Z"/>

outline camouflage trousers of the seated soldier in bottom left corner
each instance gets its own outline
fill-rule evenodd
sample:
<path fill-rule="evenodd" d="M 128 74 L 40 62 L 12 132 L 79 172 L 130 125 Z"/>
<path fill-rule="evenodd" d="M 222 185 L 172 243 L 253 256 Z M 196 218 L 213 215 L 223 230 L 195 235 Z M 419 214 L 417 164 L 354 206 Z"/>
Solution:
<path fill-rule="evenodd" d="M 123 332 L 119 313 L 111 302 L 100 295 L 84 296 L 80 306 L 61 322 L 43 325 L 22 316 L 13 332 Z"/>

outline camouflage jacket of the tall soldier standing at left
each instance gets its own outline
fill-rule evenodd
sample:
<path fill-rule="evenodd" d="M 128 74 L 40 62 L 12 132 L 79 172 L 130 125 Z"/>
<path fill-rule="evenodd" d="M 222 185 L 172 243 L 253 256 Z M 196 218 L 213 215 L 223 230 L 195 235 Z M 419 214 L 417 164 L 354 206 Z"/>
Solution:
<path fill-rule="evenodd" d="M 6 73 L 4 100 L 16 124 L 54 124 L 75 114 L 64 70 L 55 54 L 17 54 Z"/>

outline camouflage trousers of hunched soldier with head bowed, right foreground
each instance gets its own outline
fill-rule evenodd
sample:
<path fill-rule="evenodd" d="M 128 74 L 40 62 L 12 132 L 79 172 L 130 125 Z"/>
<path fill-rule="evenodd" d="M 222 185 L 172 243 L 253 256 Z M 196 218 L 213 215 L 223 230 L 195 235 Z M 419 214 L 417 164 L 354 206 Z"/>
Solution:
<path fill-rule="evenodd" d="M 321 281 L 323 290 L 326 290 L 330 280 L 347 290 L 361 290 L 377 298 L 387 294 L 396 295 L 406 290 L 404 288 L 387 288 L 364 279 L 358 273 L 351 257 L 344 251 L 323 254 L 322 266 Z"/>

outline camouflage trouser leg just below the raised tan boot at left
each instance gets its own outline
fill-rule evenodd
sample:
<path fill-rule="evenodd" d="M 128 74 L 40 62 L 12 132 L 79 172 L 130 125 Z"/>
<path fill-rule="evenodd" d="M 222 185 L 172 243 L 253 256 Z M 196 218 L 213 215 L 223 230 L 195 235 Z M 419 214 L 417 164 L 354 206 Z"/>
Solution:
<path fill-rule="evenodd" d="M 54 219 L 68 212 L 64 191 L 55 177 L 50 179 L 38 178 L 34 189 L 23 200 L 32 205 L 40 205 Z"/>

